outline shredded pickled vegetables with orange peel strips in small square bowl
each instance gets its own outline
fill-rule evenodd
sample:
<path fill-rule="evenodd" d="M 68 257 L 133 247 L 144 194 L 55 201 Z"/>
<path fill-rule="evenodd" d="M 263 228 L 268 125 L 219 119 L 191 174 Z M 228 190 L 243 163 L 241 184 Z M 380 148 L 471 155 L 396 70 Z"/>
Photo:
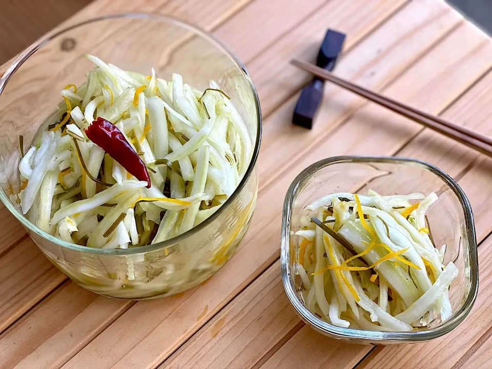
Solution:
<path fill-rule="evenodd" d="M 308 309 L 337 326 L 376 331 L 449 319 L 458 269 L 442 264 L 446 245 L 436 248 L 425 216 L 437 199 L 369 191 L 333 193 L 307 206 L 296 270 Z"/>

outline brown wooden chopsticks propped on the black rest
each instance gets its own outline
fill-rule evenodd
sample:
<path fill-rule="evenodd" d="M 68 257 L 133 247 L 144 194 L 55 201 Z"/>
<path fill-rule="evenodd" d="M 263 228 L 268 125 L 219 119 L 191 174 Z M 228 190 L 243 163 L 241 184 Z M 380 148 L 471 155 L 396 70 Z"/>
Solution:
<path fill-rule="evenodd" d="M 367 90 L 305 61 L 293 59 L 291 64 L 492 157 L 492 139 L 490 137 Z"/>

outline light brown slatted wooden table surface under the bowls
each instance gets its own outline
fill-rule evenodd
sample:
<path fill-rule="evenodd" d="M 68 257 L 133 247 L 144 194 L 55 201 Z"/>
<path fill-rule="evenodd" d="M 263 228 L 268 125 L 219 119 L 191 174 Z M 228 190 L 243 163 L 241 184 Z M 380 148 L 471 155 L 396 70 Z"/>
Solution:
<path fill-rule="evenodd" d="M 250 72 L 263 112 L 260 186 L 236 255 L 172 298 L 121 301 L 84 290 L 0 209 L 0 367 L 492 367 L 492 161 L 354 94 L 326 86 L 312 130 L 292 111 L 326 28 L 347 34 L 336 74 L 492 134 L 492 43 L 442 0 L 96 0 L 65 24 L 123 11 L 174 15 L 211 30 Z M 3 67 L 5 70 L 5 66 Z M 294 177 L 334 155 L 399 155 L 453 176 L 475 214 L 480 290 L 467 319 L 425 344 L 371 346 L 305 326 L 280 279 L 282 203 Z"/>

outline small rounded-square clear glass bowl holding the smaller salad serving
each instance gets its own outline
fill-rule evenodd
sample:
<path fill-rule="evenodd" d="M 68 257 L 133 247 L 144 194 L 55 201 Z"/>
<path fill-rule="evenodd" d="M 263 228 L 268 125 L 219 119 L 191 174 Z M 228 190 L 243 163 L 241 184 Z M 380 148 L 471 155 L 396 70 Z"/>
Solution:
<path fill-rule="evenodd" d="M 332 325 L 306 308 L 300 278 L 296 278 L 299 240 L 294 235 L 301 227 L 300 217 L 308 213 L 304 207 L 326 194 L 365 194 L 370 189 L 381 195 L 435 192 L 439 196 L 426 214 L 437 247 L 447 245 L 444 264 L 453 261 L 459 269 L 449 289 L 453 315 L 445 323 L 438 318 L 429 326 L 410 332 L 367 331 Z M 300 318 L 326 336 L 357 343 L 411 343 L 440 337 L 463 321 L 478 292 L 477 239 L 468 199 L 447 174 L 413 159 L 339 156 L 303 170 L 285 196 L 280 260 L 285 292 Z"/>

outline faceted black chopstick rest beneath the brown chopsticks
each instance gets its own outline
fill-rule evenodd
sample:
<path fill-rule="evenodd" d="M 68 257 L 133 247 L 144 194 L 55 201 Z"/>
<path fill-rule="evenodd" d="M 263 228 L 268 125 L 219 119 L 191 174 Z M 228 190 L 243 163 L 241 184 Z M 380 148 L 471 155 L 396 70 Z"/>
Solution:
<path fill-rule="evenodd" d="M 332 71 L 335 68 L 337 57 L 342 51 L 345 34 L 334 30 L 327 30 L 321 47 L 319 48 L 316 65 L 320 68 Z M 313 120 L 323 99 L 324 80 L 314 77 L 299 96 L 292 122 L 295 125 L 309 128 L 313 127 Z"/>

